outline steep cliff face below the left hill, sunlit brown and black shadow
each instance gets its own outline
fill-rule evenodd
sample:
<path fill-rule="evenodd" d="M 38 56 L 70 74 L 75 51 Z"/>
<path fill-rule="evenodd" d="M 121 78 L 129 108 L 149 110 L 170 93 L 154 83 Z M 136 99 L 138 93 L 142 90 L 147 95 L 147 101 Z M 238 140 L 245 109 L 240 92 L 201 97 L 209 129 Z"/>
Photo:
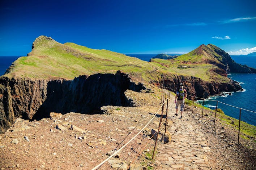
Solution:
<path fill-rule="evenodd" d="M 124 91 L 145 89 L 121 72 L 79 76 L 74 80 L 31 80 L 1 77 L 0 133 L 14 117 L 41 119 L 50 112 L 99 113 L 102 106 L 130 106 Z"/>

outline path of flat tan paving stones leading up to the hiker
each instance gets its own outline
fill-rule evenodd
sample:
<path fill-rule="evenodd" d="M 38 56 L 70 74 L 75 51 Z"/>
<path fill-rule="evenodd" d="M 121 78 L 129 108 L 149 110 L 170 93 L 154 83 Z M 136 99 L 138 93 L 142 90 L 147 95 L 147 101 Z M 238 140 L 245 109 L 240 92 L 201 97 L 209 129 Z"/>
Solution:
<path fill-rule="evenodd" d="M 211 151 L 201 126 L 189 117 L 188 111 L 184 111 L 182 119 L 180 119 L 180 113 L 178 116 L 174 114 L 175 106 L 171 99 L 168 104 L 168 120 L 173 121 L 174 124 L 168 126 L 167 130 L 171 133 L 172 139 L 170 143 L 158 145 L 155 157 L 157 167 L 154 168 L 158 170 L 212 169 L 206 156 Z"/>

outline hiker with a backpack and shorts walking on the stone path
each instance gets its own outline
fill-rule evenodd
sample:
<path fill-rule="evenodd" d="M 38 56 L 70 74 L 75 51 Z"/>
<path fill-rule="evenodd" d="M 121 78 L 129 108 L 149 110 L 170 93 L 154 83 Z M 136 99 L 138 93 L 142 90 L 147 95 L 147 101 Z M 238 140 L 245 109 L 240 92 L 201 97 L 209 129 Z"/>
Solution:
<path fill-rule="evenodd" d="M 178 107 L 180 105 L 180 118 L 182 118 L 182 113 L 184 110 L 184 106 L 185 106 L 185 98 L 187 97 L 187 91 L 185 89 L 183 89 L 184 84 L 180 83 L 180 88 L 176 91 L 176 96 L 175 96 L 175 100 L 174 103 L 176 103 L 176 113 L 175 116 L 178 116 Z"/>

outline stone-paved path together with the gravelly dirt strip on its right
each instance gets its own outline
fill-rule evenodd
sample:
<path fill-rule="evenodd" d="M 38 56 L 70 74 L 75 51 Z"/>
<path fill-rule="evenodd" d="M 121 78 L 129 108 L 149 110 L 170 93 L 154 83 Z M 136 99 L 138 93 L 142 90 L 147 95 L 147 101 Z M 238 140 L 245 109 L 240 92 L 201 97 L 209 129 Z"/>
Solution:
<path fill-rule="evenodd" d="M 201 109 L 185 107 L 183 118 L 175 116 L 174 97 L 168 104 L 167 126 L 172 134 L 170 143 L 158 142 L 155 169 L 256 169 L 255 147 L 249 149 L 248 140 L 236 143 L 237 134 L 217 121 L 213 128 L 213 117 L 201 117 Z M 209 111 L 205 111 L 205 114 Z M 250 143 L 255 146 L 254 142 Z"/>

